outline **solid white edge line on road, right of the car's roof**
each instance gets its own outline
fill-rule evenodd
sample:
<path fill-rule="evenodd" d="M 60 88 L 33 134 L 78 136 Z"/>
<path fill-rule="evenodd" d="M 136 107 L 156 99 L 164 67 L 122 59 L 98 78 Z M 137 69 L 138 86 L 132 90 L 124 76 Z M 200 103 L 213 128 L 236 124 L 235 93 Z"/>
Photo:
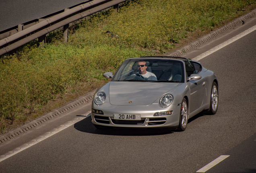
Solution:
<path fill-rule="evenodd" d="M 256 25 L 254 25 L 254 26 L 252 26 L 252 28 L 249 28 L 248 30 L 245 30 L 244 32 L 242 32 L 242 33 L 240 33 L 240 34 L 234 36 L 233 38 L 230 38 L 229 40 L 227 40 L 227 41 L 225 41 L 225 42 L 219 44 L 218 46 L 216 46 L 216 47 L 214 47 L 214 48 L 212 48 L 212 49 L 210 49 L 210 50 L 208 50 L 208 51 L 206 51 L 206 52 L 204 52 L 204 53 L 202 53 L 202 54 L 196 56 L 196 57 L 193 58 L 192 60 L 198 61 L 198 60 L 200 60 L 200 59 L 202 59 L 202 58 L 204 58 L 204 57 L 206 57 L 206 56 L 212 54 L 213 52 L 216 52 L 217 50 L 220 50 L 221 48 L 223 48 L 223 47 L 229 45 L 230 43 L 232 43 L 232 42 L 238 40 L 239 38 L 242 38 L 243 36 L 246 36 L 247 34 L 249 34 L 250 32 L 252 32 L 252 31 L 254 31 L 254 30 L 256 30 Z"/>

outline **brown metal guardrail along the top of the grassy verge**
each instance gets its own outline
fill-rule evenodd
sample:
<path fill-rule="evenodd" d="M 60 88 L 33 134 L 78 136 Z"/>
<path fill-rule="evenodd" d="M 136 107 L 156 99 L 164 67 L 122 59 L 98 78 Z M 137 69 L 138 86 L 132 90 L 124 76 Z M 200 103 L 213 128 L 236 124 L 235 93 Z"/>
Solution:
<path fill-rule="evenodd" d="M 126 0 L 89 0 L 84 4 L 66 8 L 60 12 L 39 18 L 38 21 L 18 25 L 0 32 L 0 55 L 31 42 L 38 38 L 38 42 L 45 42 L 46 34 L 64 26 L 64 38 L 67 41 L 68 26 L 70 23 L 105 10 L 109 7 L 118 7 L 118 4 Z M 7 32 L 6 32 L 7 31 Z M 2 38 L 1 38 L 2 37 Z"/>

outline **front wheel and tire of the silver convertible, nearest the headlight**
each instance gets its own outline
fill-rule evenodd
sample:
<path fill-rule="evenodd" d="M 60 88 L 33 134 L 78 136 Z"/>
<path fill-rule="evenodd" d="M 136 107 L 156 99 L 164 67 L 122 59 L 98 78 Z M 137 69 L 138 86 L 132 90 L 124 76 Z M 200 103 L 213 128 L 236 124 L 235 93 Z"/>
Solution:
<path fill-rule="evenodd" d="M 184 98 L 180 107 L 180 123 L 178 131 L 184 131 L 188 125 L 188 103 Z"/>

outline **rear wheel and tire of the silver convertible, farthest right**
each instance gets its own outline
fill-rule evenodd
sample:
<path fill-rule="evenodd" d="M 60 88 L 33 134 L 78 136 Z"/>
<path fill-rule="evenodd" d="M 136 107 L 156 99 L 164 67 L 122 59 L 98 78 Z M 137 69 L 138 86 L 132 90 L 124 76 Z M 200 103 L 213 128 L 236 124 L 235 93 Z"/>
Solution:
<path fill-rule="evenodd" d="M 211 89 L 211 102 L 210 102 L 210 108 L 209 113 L 211 115 L 216 114 L 219 106 L 219 92 L 218 92 L 218 86 L 216 82 L 213 82 L 212 89 Z"/>

